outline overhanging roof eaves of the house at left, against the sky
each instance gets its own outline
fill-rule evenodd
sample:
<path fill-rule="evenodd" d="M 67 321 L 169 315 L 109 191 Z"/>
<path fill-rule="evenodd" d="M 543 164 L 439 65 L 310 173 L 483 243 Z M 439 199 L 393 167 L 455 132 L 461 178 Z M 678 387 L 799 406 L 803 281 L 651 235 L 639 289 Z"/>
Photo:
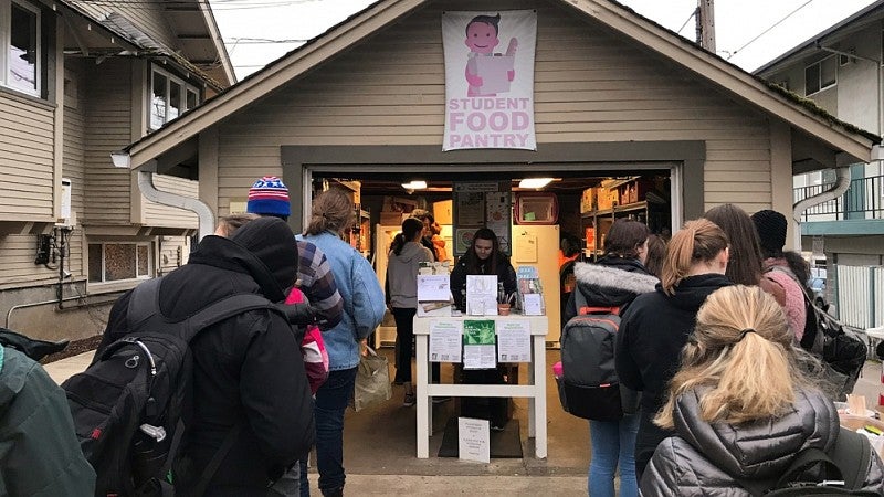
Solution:
<path fill-rule="evenodd" d="M 161 55 L 171 59 L 187 71 L 199 74 L 217 91 L 236 83 L 233 64 L 230 62 L 218 24 L 208 0 L 177 0 L 162 11 L 164 19 L 176 35 L 177 46 L 170 47 L 145 33 L 114 6 L 126 6 L 126 0 L 108 0 L 98 4 L 104 14 L 98 15 L 95 4 L 84 0 L 60 0 L 70 10 L 102 27 L 120 41 L 138 49 L 138 53 Z"/>

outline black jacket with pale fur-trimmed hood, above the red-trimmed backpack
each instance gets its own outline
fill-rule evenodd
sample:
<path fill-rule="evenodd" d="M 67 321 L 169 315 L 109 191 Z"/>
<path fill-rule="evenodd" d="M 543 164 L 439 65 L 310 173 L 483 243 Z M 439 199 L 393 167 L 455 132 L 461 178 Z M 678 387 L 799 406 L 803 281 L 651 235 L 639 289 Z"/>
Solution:
<path fill-rule="evenodd" d="M 577 290 L 583 294 L 587 305 L 596 307 L 623 307 L 638 295 L 653 292 L 659 283 L 641 262 L 634 258 L 606 256 L 596 264 L 577 263 L 573 266 Z M 577 316 L 575 294 L 568 299 L 561 325 Z"/>

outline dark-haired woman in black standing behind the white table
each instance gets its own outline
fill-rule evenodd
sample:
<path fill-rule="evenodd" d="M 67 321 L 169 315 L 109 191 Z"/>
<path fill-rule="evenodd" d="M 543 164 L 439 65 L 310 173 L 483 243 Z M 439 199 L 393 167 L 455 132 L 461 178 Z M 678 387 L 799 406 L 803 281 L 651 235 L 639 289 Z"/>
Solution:
<path fill-rule="evenodd" d="M 466 309 L 466 276 L 467 275 L 496 275 L 497 282 L 503 283 L 507 295 L 516 293 L 516 271 L 509 264 L 509 257 L 502 253 L 497 235 L 487 228 L 476 230 L 470 248 L 457 261 L 451 273 L 451 293 L 454 304 L 462 311 Z M 499 384 L 504 382 L 501 369 L 473 369 L 463 372 L 464 383 Z M 491 427 L 501 431 L 507 422 L 507 402 L 505 398 L 488 399 Z M 471 414 L 476 409 L 474 398 L 464 399 L 461 403 L 463 415 Z M 474 414 L 475 416 L 477 414 Z"/>

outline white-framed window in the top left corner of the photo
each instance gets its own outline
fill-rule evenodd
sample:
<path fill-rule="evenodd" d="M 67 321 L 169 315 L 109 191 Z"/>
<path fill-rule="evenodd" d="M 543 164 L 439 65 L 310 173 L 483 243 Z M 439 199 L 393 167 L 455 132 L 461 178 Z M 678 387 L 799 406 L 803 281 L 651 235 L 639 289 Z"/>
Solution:
<path fill-rule="evenodd" d="M 40 10 L 0 0 L 0 85 L 40 96 Z"/>

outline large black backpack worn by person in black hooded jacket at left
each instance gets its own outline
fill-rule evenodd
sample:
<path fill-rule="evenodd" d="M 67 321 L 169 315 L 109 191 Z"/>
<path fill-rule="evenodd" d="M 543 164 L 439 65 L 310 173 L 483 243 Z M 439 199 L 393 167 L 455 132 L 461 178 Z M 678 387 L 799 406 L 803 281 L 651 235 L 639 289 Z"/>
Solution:
<path fill-rule="evenodd" d="M 97 475 L 97 496 L 173 495 L 171 466 L 191 411 L 190 340 L 248 310 L 284 315 L 261 295 L 239 294 L 171 321 L 159 311 L 159 287 L 160 278 L 136 287 L 126 316 L 129 332 L 62 383 L 81 448 Z M 234 427 L 227 435 L 192 495 L 204 491 L 238 434 Z"/>

